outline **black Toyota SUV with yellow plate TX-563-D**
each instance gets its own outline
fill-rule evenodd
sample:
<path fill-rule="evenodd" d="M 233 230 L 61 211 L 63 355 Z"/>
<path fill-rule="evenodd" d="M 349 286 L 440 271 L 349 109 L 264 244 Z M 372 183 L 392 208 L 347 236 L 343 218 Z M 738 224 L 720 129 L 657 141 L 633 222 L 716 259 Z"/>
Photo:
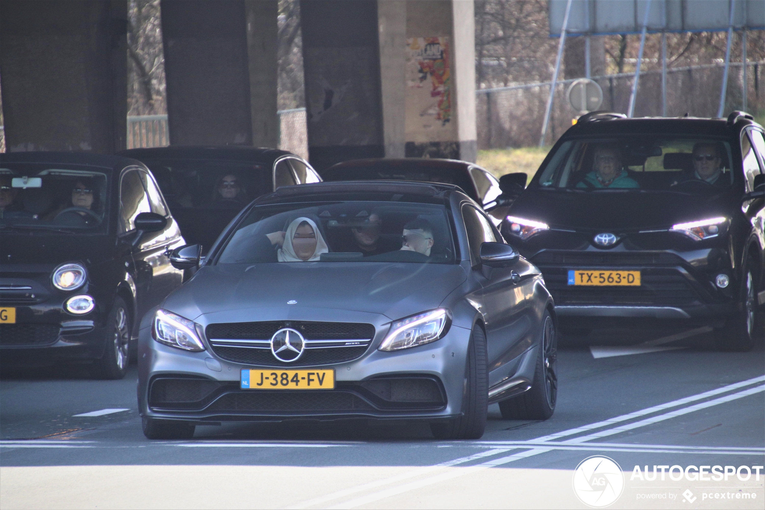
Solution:
<path fill-rule="evenodd" d="M 747 350 L 763 285 L 765 139 L 752 115 L 568 129 L 502 232 L 542 270 L 562 327 L 678 320 Z"/>

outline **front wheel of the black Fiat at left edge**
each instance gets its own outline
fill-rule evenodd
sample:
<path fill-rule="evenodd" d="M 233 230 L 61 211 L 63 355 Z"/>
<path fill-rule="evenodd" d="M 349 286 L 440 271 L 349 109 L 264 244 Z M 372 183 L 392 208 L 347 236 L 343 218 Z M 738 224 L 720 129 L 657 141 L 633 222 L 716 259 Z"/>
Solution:
<path fill-rule="evenodd" d="M 106 318 L 106 344 L 103 356 L 93 362 L 93 372 L 100 379 L 121 379 L 130 362 L 131 321 L 128 306 L 117 296 Z"/>

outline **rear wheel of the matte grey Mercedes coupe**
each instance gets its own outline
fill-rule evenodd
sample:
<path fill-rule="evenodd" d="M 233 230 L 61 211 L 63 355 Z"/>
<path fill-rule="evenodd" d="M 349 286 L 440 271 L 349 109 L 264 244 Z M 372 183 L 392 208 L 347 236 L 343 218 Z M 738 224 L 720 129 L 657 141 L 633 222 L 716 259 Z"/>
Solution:
<path fill-rule="evenodd" d="M 547 420 L 555 412 L 558 400 L 558 336 L 550 312 L 542 320 L 542 339 L 531 389 L 500 401 L 500 412 L 506 420 Z"/>

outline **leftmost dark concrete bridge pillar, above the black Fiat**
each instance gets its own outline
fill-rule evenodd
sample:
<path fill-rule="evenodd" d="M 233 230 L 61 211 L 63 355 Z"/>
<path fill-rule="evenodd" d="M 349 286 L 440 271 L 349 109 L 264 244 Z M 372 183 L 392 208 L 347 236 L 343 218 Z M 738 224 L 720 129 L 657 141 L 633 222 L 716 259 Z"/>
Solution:
<path fill-rule="evenodd" d="M 8 151 L 125 148 L 127 3 L 0 2 Z"/>

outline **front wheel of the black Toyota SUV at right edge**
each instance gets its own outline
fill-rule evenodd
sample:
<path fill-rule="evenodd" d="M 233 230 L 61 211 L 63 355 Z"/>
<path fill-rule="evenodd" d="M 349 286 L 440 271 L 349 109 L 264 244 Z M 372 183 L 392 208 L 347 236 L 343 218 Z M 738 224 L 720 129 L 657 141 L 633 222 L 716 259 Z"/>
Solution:
<path fill-rule="evenodd" d="M 725 326 L 715 329 L 715 345 L 725 352 L 746 352 L 754 346 L 760 327 L 757 310 L 757 279 L 754 264 L 744 266 L 744 278 L 739 289 L 740 310 L 728 317 Z"/>

